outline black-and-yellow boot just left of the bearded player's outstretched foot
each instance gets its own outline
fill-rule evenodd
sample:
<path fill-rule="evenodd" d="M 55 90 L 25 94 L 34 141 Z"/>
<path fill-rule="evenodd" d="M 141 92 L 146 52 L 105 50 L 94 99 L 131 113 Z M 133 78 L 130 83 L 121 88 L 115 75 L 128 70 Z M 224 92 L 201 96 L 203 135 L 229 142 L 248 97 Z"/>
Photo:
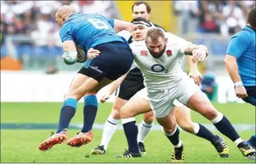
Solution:
<path fill-rule="evenodd" d="M 229 147 L 226 145 L 226 142 L 223 137 L 216 135 L 219 139 L 216 142 L 213 142 L 213 146 L 215 146 L 215 149 L 219 153 L 219 156 L 222 158 L 228 158 L 229 157 Z"/>

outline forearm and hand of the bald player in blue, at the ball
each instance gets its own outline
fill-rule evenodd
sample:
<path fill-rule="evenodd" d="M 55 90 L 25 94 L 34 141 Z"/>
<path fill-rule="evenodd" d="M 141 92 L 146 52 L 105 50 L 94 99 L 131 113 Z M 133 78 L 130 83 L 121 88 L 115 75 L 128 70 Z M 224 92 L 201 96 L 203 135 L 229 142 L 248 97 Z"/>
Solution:
<path fill-rule="evenodd" d="M 77 48 L 74 41 L 64 41 L 63 60 L 66 64 L 75 64 L 77 62 Z"/>

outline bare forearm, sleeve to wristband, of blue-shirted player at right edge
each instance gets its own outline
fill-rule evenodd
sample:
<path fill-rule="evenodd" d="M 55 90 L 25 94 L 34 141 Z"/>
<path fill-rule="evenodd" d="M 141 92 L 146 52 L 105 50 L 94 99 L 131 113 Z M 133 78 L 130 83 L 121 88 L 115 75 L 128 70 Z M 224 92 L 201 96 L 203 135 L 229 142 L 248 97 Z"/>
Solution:
<path fill-rule="evenodd" d="M 236 63 L 236 60 L 229 59 L 226 57 L 224 62 L 225 62 L 226 71 L 228 71 L 229 76 L 233 81 L 233 83 L 241 81 L 241 77 L 238 74 L 238 65 Z"/>

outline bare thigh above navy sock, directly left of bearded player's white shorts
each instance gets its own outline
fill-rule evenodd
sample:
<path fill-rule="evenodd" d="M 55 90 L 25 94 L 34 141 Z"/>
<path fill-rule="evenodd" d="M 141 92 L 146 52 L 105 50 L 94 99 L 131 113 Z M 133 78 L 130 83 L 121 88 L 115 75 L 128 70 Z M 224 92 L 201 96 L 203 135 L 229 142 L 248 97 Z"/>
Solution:
<path fill-rule="evenodd" d="M 131 118 L 138 114 L 143 114 L 151 111 L 150 104 L 147 100 L 134 95 L 124 106 L 120 109 L 121 118 Z"/>

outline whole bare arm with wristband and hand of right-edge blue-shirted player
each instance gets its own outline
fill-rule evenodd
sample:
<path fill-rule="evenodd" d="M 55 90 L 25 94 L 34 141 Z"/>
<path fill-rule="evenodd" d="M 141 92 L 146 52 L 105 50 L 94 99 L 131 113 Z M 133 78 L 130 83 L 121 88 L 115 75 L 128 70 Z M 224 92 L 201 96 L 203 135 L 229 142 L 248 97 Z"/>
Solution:
<path fill-rule="evenodd" d="M 248 97 L 243 83 L 241 82 L 241 77 L 238 74 L 238 64 L 236 62 L 236 57 L 226 54 L 224 62 L 226 70 L 228 71 L 231 80 L 236 86 L 236 96 L 239 98 Z"/>

